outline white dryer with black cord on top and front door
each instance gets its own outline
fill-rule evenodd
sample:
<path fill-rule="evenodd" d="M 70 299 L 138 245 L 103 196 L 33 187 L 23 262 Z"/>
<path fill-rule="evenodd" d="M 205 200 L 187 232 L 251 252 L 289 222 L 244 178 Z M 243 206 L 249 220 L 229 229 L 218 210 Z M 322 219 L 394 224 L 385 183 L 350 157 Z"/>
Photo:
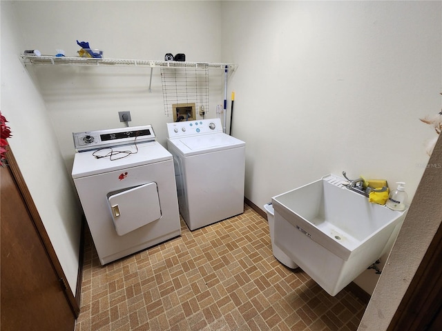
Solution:
<path fill-rule="evenodd" d="M 72 177 L 102 265 L 180 236 L 173 157 L 152 126 L 73 138 Z"/>

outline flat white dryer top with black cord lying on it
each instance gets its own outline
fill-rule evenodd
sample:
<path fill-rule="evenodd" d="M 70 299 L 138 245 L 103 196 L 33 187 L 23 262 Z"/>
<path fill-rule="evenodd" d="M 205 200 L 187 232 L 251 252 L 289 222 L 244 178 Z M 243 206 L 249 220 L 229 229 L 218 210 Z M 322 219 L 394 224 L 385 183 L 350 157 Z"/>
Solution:
<path fill-rule="evenodd" d="M 152 141 L 149 143 L 137 143 L 136 147 L 135 145 L 119 146 L 113 148 L 113 151 L 131 151 L 134 154 L 129 154 L 127 157 L 123 157 L 122 159 L 116 159 L 119 157 L 117 154 L 115 155 L 116 160 L 111 161 L 109 157 L 97 159 L 93 155 L 95 152 L 95 155 L 104 156 L 106 153 L 110 152 L 109 149 L 99 151 L 90 150 L 87 152 L 75 153 L 74 165 L 72 169 L 73 179 L 172 159 L 172 154 L 169 153 L 169 151 L 157 141 Z"/>

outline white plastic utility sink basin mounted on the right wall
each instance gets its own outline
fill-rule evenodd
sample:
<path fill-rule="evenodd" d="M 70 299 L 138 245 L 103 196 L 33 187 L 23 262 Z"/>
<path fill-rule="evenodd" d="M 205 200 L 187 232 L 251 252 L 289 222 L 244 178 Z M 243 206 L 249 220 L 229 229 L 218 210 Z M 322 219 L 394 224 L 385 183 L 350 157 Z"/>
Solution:
<path fill-rule="evenodd" d="M 271 199 L 275 245 L 332 296 L 391 250 L 405 218 L 344 183 L 329 174 Z"/>

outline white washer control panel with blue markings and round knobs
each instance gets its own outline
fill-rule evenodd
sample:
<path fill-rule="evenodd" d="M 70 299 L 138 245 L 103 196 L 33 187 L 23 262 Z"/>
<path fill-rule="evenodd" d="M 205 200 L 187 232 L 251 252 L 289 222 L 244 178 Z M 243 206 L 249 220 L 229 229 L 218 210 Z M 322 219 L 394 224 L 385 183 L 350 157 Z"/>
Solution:
<path fill-rule="evenodd" d="M 220 119 L 198 119 L 196 121 L 167 123 L 169 139 L 219 132 L 222 132 Z"/>

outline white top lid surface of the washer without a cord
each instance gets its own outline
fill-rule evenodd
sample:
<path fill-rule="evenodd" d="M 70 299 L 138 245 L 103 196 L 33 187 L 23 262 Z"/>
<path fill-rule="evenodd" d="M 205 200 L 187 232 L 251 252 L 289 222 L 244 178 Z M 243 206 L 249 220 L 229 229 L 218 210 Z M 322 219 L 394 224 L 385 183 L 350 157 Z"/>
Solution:
<path fill-rule="evenodd" d="M 168 139 L 184 156 L 216 152 L 245 146 L 240 139 L 225 133 L 203 134 L 201 136 Z"/>

